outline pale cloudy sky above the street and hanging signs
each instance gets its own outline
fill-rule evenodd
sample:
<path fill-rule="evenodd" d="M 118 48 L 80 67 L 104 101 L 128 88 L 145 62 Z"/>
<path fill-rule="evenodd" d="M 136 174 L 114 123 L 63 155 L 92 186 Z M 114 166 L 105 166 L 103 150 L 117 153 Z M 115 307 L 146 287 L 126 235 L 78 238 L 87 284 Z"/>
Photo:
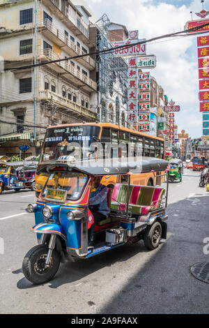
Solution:
<path fill-rule="evenodd" d="M 199 20 L 195 13 L 202 10 L 201 0 L 86 0 L 86 3 L 96 17 L 106 13 L 111 22 L 123 24 L 127 30 L 138 29 L 139 38 L 146 39 L 183 31 L 187 21 Z M 204 9 L 209 10 L 209 0 L 205 0 Z M 147 54 L 155 54 L 157 59 L 151 75 L 169 100 L 180 105 L 180 112 L 175 114 L 178 133 L 184 129 L 189 137 L 201 137 L 196 36 L 155 41 L 147 45 Z"/>

